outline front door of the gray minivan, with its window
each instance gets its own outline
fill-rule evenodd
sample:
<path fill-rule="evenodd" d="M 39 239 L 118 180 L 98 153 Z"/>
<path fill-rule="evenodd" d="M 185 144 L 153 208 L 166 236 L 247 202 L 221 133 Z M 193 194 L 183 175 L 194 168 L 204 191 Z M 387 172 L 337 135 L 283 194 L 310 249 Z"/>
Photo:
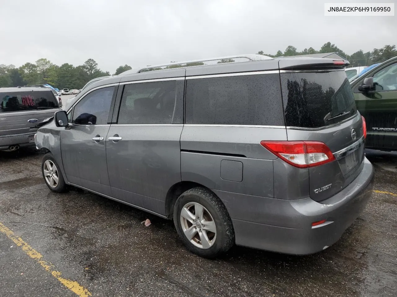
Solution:
<path fill-rule="evenodd" d="M 110 196 L 106 166 L 108 117 L 116 87 L 88 93 L 72 110 L 71 124 L 62 130 L 61 152 L 67 180 Z"/>

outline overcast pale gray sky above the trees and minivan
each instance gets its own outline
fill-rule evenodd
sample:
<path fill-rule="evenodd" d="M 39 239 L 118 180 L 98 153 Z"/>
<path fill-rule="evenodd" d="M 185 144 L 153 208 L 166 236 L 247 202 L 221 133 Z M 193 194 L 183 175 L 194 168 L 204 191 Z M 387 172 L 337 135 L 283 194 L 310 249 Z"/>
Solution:
<path fill-rule="evenodd" d="M 397 44 L 397 16 L 326 17 L 324 2 L 331 1 L 0 0 L 0 64 L 93 58 L 113 73 L 124 64 L 274 54 L 288 45 L 319 50 L 330 41 L 352 54 Z"/>

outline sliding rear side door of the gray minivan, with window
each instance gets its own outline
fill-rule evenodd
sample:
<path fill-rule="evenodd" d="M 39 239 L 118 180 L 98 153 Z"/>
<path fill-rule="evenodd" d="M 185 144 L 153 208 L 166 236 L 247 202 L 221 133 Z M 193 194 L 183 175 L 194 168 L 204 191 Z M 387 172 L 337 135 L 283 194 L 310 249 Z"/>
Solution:
<path fill-rule="evenodd" d="M 114 198 L 165 214 L 167 192 L 181 181 L 183 84 L 182 78 L 124 86 L 106 139 Z"/>

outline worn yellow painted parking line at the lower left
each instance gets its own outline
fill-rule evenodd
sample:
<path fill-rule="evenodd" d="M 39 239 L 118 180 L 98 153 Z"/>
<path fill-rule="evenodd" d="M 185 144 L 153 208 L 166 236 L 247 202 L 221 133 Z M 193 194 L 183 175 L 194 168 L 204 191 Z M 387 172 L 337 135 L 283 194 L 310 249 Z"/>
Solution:
<path fill-rule="evenodd" d="M 54 278 L 56 278 L 62 285 L 67 287 L 70 291 L 72 291 L 79 297 L 92 296 L 92 294 L 85 287 L 81 286 L 78 282 L 61 277 L 62 273 L 56 270 L 55 269 L 56 267 L 51 262 L 46 261 L 43 258 L 42 254 L 36 251 L 33 247 L 29 246 L 29 244 L 24 242 L 22 238 L 15 236 L 14 232 L 12 232 L 10 229 L 4 226 L 1 222 L 0 222 L 0 232 L 6 234 L 6 236 L 10 238 L 17 246 L 22 248 L 22 250 L 25 252 L 26 255 L 36 260 L 37 263 L 39 263 L 42 268 L 50 272 L 50 274 L 52 274 Z"/>

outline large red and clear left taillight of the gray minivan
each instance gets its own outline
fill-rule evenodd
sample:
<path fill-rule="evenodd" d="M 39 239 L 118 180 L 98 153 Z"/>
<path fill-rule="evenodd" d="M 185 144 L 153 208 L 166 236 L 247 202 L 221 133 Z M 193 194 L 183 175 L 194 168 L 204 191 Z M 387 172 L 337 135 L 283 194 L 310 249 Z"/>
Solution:
<path fill-rule="evenodd" d="M 335 160 L 331 150 L 319 141 L 261 141 L 273 154 L 298 168 L 314 167 Z"/>

